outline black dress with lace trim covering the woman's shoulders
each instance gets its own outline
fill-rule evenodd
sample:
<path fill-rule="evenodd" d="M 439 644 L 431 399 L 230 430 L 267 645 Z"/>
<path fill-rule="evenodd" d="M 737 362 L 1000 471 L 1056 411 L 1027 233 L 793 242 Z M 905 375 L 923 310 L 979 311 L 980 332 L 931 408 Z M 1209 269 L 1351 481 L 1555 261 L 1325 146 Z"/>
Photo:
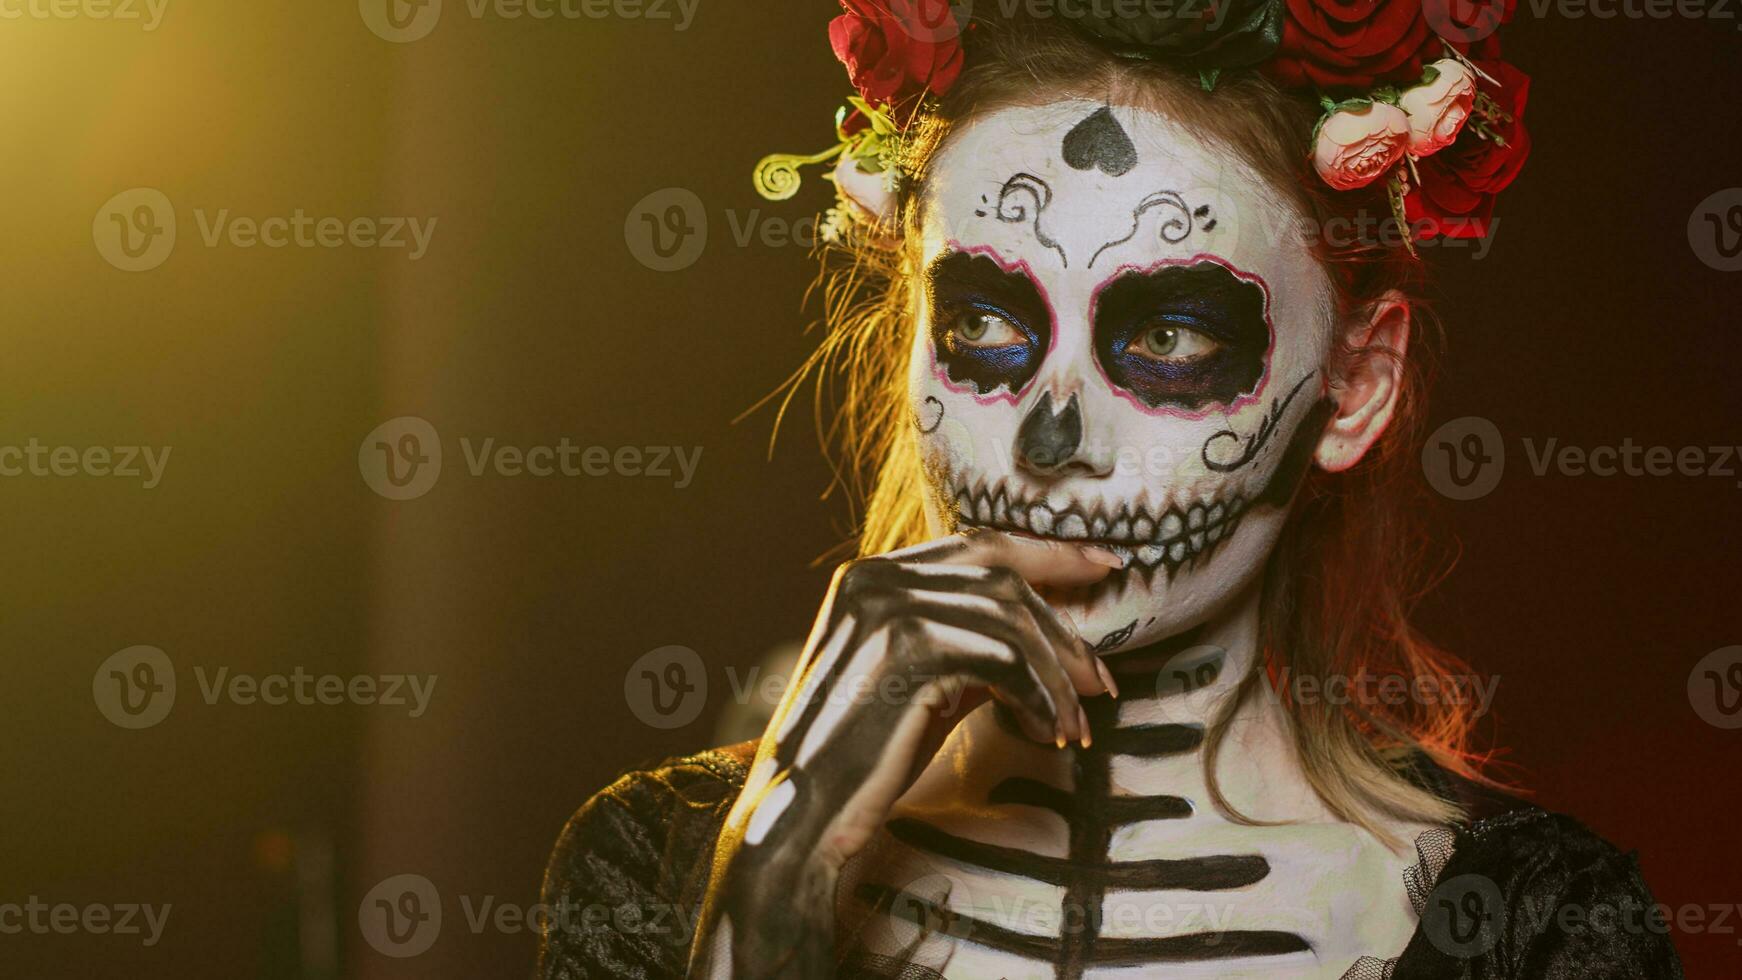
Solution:
<path fill-rule="evenodd" d="M 632 771 L 575 813 L 545 870 L 542 980 L 683 977 L 714 837 L 754 748 Z M 1421 923 L 1399 957 L 1362 959 L 1347 980 L 1681 980 L 1632 855 L 1570 816 L 1421 776 L 1463 797 L 1472 820 L 1416 841 L 1404 884 Z M 848 952 L 838 977 L 935 973 Z"/>

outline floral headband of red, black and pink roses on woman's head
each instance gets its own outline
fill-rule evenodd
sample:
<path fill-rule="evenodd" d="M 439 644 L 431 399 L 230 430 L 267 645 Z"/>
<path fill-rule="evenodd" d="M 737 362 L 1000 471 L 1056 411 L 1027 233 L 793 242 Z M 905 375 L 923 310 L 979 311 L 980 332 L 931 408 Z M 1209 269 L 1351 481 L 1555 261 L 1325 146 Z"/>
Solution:
<path fill-rule="evenodd" d="M 756 165 L 758 193 L 786 200 L 798 193 L 800 167 L 833 160 L 838 207 L 829 209 L 824 233 L 838 238 L 848 221 L 885 214 L 902 179 L 904 131 L 962 73 L 963 40 L 976 26 L 970 2 L 841 0 L 829 44 L 859 94 L 836 113 L 834 146 L 765 157 Z M 1324 110 L 1310 148 L 1319 178 L 1340 191 L 1385 181 L 1394 218 L 1413 233 L 1404 245 L 1415 252 L 1411 237 L 1484 237 L 1495 197 L 1529 155 L 1523 124 L 1529 78 L 1500 61 L 1495 37 L 1514 5 L 1085 2 L 1070 23 L 1113 54 L 1197 71 L 1205 91 L 1225 70 L 1256 66 L 1286 89 L 1315 92 Z"/>

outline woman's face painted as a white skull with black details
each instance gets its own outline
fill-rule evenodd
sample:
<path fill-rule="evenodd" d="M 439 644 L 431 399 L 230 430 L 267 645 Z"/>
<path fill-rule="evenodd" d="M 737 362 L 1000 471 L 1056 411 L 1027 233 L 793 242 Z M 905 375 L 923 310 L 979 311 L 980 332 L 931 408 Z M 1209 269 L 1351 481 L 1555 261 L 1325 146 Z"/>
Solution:
<path fill-rule="evenodd" d="M 1071 99 L 956 132 L 923 216 L 909 392 L 934 531 L 1129 555 L 1049 595 L 1103 653 L 1252 585 L 1312 442 L 1284 456 L 1324 421 L 1331 285 L 1265 233 L 1298 211 L 1158 113 Z"/>

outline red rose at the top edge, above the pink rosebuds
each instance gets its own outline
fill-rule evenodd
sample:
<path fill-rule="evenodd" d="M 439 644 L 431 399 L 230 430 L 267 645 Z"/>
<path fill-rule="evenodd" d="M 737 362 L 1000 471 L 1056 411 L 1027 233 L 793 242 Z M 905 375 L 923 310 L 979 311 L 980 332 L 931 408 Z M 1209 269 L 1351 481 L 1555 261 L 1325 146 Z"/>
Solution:
<path fill-rule="evenodd" d="M 1265 70 L 1289 87 L 1371 89 L 1415 82 L 1421 59 L 1441 54 L 1421 0 L 1287 0 L 1282 47 Z"/>

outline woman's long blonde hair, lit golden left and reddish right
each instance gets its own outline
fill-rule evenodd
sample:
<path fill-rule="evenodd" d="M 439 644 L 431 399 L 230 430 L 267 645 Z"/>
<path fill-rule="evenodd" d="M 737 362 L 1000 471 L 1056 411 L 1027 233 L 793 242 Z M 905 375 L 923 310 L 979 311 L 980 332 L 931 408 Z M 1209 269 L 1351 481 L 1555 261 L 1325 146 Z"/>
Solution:
<path fill-rule="evenodd" d="M 948 136 L 995 108 L 1082 94 L 1153 104 L 1207 141 L 1237 151 L 1263 179 L 1319 221 L 1338 214 L 1390 214 L 1383 190 L 1333 195 L 1312 178 L 1306 146 L 1317 106 L 1287 94 L 1256 71 L 1226 71 L 1205 92 L 1195 75 L 1164 64 L 1111 56 L 1042 21 L 979 23 L 970 59 L 953 89 L 908 127 L 899 202 L 904 240 L 918 240 L 918 188 Z M 1378 211 L 1374 211 L 1378 209 Z M 1418 634 L 1409 614 L 1432 576 L 1432 548 L 1418 513 L 1425 494 L 1413 460 L 1420 444 L 1428 360 L 1437 322 L 1420 301 L 1420 266 L 1399 247 L 1308 245 L 1320 258 L 1341 317 L 1357 315 L 1390 291 L 1411 299 L 1411 353 L 1402 392 L 1381 440 L 1343 473 L 1313 470 L 1272 552 L 1263 581 L 1265 672 L 1252 672 L 1212 719 L 1205 735 L 1211 797 L 1235 820 L 1216 782 L 1216 757 L 1235 708 L 1272 682 L 1291 717 L 1294 745 L 1312 787 L 1343 820 L 1390 839 L 1380 816 L 1423 823 L 1463 818 L 1458 802 L 1421 789 L 1408 769 L 1420 755 L 1441 768 L 1493 785 L 1470 750 L 1474 717 L 1444 700 L 1406 705 L 1300 703 L 1279 677 L 1361 677 L 1367 674 L 1460 677 L 1463 663 Z M 817 378 L 817 423 L 836 447 L 838 484 L 864 503 L 857 552 L 873 555 L 925 538 L 925 482 L 908 397 L 913 345 L 915 256 L 887 249 L 862 233 L 822 252 L 824 322 L 819 348 L 784 388 L 782 414 L 800 381 Z M 1357 357 L 1399 357 L 1340 339 L 1333 366 Z M 836 388 L 836 385 L 840 385 Z"/>

